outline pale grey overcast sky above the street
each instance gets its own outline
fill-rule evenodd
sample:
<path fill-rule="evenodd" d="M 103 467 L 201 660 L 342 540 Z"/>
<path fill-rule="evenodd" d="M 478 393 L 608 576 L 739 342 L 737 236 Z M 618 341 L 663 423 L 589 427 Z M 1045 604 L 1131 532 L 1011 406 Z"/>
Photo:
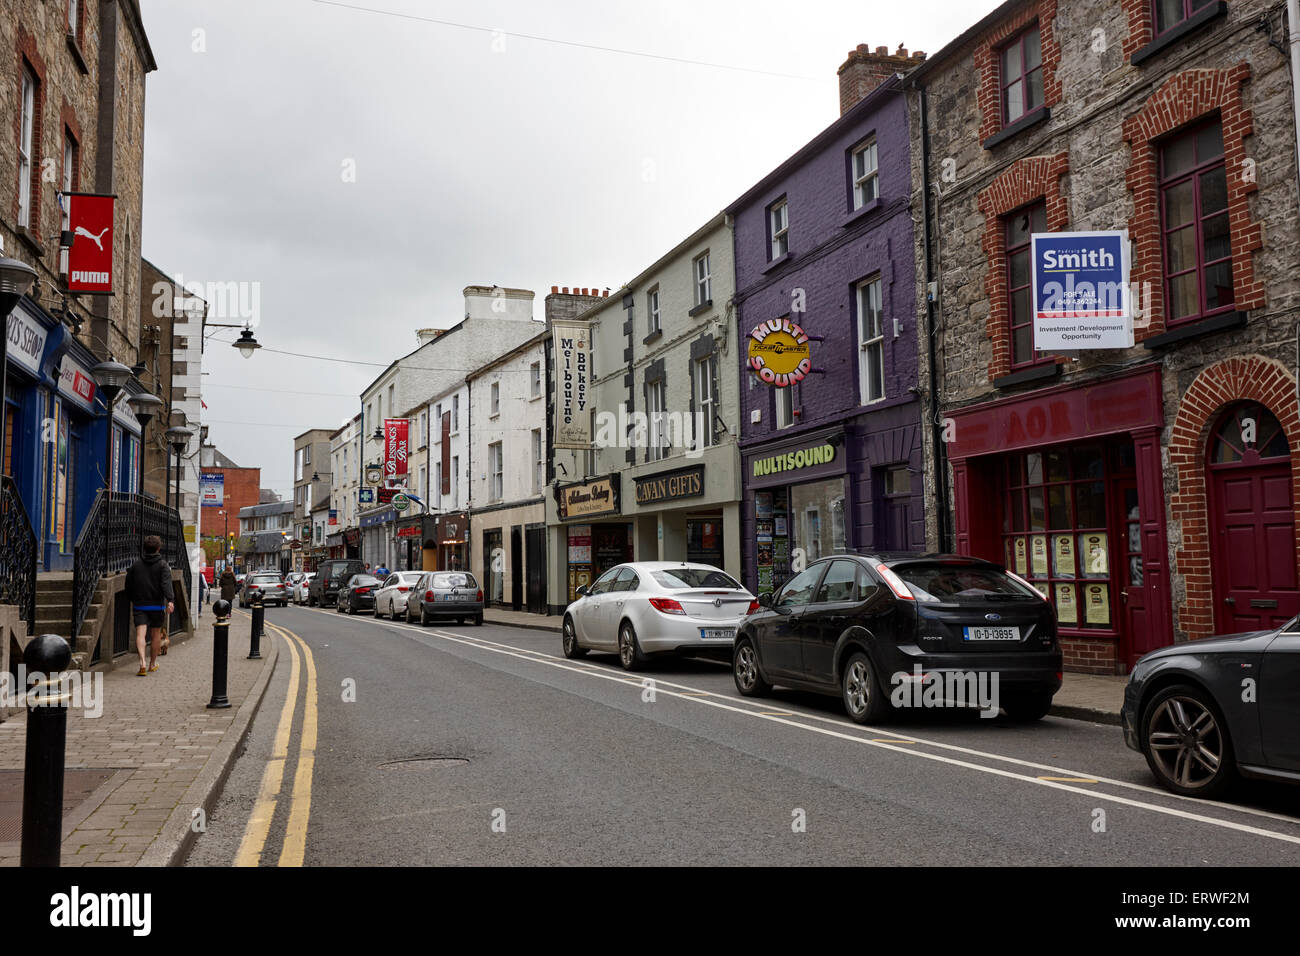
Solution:
<path fill-rule="evenodd" d="M 209 442 L 290 497 L 294 436 L 467 285 L 538 320 L 620 287 L 837 118 L 849 49 L 933 53 L 996 5 L 142 0 L 144 256 L 264 346 L 211 330 Z"/>

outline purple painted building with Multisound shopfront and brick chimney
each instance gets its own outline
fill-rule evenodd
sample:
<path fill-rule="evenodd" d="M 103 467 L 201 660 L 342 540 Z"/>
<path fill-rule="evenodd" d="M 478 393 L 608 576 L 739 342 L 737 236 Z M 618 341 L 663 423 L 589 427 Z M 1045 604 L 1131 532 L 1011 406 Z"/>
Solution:
<path fill-rule="evenodd" d="M 841 116 L 737 199 L 745 584 L 924 546 L 911 163 L 898 73 L 859 47 Z"/>

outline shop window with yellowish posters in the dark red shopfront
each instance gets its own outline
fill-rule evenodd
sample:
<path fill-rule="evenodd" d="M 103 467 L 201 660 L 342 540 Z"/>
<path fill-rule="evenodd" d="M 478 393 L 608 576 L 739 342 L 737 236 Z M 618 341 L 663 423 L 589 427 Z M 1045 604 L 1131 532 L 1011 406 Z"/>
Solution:
<path fill-rule="evenodd" d="M 1080 445 L 1006 459 L 1006 566 L 1056 605 L 1062 628 L 1117 630 L 1108 488 L 1126 470 L 1119 447 Z"/>

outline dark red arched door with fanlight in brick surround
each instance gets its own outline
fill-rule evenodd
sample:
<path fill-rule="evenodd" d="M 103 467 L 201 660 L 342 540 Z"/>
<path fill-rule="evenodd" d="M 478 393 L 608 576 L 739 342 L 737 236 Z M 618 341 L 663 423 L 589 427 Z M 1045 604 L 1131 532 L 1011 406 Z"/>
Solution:
<path fill-rule="evenodd" d="M 1291 447 L 1258 402 L 1223 412 L 1208 444 L 1214 630 L 1240 633 L 1300 613 Z"/>

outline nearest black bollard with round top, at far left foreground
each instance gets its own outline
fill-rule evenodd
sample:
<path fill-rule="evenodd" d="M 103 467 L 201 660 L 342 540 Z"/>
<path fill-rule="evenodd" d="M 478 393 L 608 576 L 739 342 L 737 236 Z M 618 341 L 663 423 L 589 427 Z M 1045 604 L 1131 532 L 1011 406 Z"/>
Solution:
<path fill-rule="evenodd" d="M 22 865 L 58 866 L 64 843 L 64 749 L 68 695 L 55 675 L 68 670 L 73 650 L 56 633 L 32 637 L 22 652 L 27 672 L 42 679 L 27 688 L 27 757 L 22 778 Z"/>

